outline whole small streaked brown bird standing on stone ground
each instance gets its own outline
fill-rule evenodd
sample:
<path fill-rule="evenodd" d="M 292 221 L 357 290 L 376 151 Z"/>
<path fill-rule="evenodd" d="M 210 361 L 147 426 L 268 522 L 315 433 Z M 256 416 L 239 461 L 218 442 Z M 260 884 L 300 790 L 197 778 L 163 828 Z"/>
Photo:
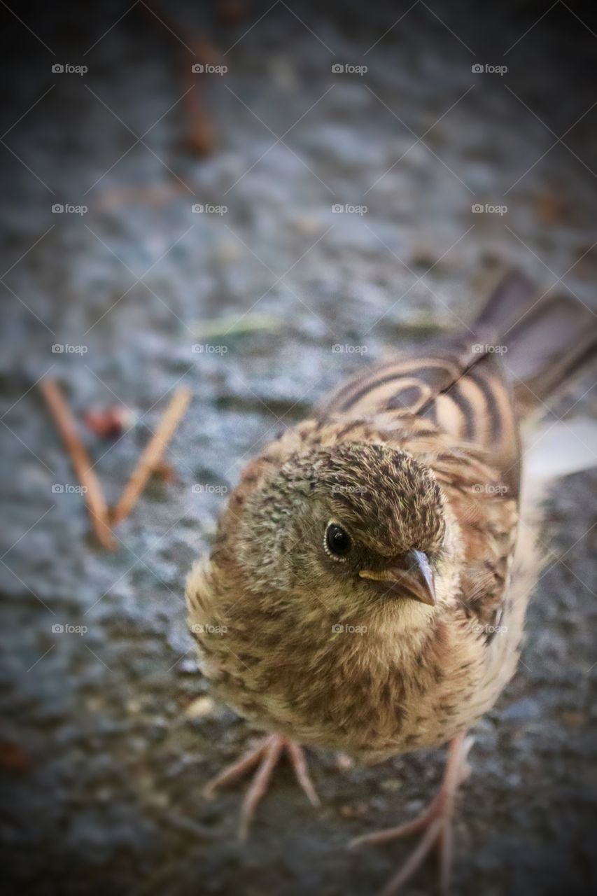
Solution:
<path fill-rule="evenodd" d="M 447 887 L 465 733 L 515 671 L 541 566 L 520 428 L 595 337 L 510 273 L 469 332 L 369 368 L 248 464 L 186 590 L 215 692 L 273 732 L 207 788 L 258 766 L 243 834 L 283 750 L 316 804 L 299 744 L 368 762 L 450 741 L 428 809 L 358 841 L 421 833 L 385 896 L 436 845 Z"/>

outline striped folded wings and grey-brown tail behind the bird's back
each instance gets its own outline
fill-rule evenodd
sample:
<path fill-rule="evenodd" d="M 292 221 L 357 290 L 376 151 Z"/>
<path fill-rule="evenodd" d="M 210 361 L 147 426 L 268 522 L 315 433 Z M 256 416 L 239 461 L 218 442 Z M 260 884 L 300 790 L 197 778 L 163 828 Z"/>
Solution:
<path fill-rule="evenodd" d="M 541 295 L 510 271 L 468 333 L 368 368 L 324 402 L 320 419 L 390 414 L 397 426 L 428 419 L 480 448 L 515 496 L 518 423 L 541 413 L 554 392 L 594 363 L 596 316 L 574 297 Z"/>

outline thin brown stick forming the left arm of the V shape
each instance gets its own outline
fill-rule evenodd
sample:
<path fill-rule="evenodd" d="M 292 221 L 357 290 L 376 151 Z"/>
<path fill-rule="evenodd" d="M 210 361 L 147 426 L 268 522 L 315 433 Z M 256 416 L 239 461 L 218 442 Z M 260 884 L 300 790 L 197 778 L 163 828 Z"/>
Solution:
<path fill-rule="evenodd" d="M 83 497 L 95 534 L 104 547 L 114 550 L 117 543 L 108 526 L 108 504 L 106 504 L 106 498 L 99 485 L 99 479 L 91 469 L 91 459 L 77 432 L 74 417 L 66 403 L 65 396 L 56 380 L 42 380 L 39 383 L 39 389 L 65 443 L 66 451 L 73 462 L 74 472 L 82 487 L 86 489 Z"/>

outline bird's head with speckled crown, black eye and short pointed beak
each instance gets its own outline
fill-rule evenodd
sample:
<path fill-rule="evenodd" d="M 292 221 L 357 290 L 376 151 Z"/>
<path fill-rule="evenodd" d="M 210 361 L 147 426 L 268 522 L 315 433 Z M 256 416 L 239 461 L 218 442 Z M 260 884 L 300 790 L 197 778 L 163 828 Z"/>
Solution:
<path fill-rule="evenodd" d="M 230 502 L 212 589 L 286 623 L 348 613 L 367 625 L 378 611 L 424 625 L 446 591 L 446 525 L 434 474 L 408 452 L 346 443 L 297 453 Z"/>

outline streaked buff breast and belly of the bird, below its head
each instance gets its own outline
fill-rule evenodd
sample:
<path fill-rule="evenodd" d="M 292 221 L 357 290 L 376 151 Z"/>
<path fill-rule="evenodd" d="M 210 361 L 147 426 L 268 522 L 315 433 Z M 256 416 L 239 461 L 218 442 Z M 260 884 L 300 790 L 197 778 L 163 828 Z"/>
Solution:
<path fill-rule="evenodd" d="M 503 686 L 499 676 L 487 680 L 484 644 L 457 615 L 393 646 L 356 622 L 333 632 L 330 620 L 321 642 L 307 630 L 284 638 L 278 627 L 269 644 L 265 619 L 258 639 L 238 622 L 198 625 L 204 674 L 224 702 L 256 727 L 360 759 L 445 743 Z"/>

